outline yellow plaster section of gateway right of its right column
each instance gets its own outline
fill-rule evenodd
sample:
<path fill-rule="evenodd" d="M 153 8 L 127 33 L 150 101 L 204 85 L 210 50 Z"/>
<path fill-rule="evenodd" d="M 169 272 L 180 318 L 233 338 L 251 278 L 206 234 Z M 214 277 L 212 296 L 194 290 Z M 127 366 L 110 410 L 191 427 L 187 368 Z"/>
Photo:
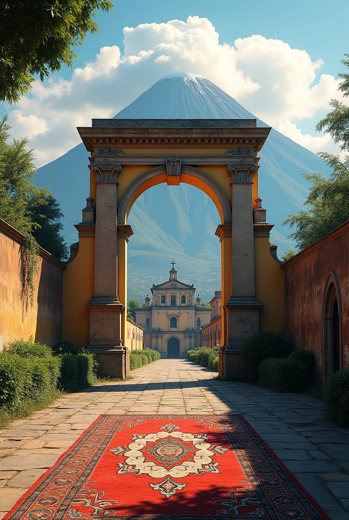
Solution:
<path fill-rule="evenodd" d="M 266 237 L 254 238 L 254 273 L 256 297 L 263 304 L 259 313 L 260 331 L 284 329 L 285 271 L 272 257 Z"/>

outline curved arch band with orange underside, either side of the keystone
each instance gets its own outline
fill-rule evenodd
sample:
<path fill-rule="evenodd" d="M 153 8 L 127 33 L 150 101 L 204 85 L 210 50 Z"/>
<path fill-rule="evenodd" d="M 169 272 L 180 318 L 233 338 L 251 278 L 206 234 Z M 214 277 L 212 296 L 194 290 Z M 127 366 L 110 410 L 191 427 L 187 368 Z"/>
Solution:
<path fill-rule="evenodd" d="M 182 166 L 181 179 L 183 179 L 182 182 L 201 189 L 212 199 L 214 205 L 217 207 L 222 224 L 231 223 L 232 212 L 229 201 L 222 188 L 212 177 L 192 166 Z M 166 181 L 166 166 L 156 166 L 139 175 L 139 177 L 130 184 L 120 200 L 117 215 L 118 223 L 127 223 L 128 214 L 132 205 L 144 191 L 157 184 L 166 183 Z"/>

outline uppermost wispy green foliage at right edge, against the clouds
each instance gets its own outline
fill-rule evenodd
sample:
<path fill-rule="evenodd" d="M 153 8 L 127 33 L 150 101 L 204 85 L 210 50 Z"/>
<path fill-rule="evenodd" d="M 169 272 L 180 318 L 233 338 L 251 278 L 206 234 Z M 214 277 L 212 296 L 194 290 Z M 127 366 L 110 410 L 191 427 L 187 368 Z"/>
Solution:
<path fill-rule="evenodd" d="M 349 54 L 344 54 L 349 58 Z M 349 69 L 349 60 L 341 60 Z M 341 72 L 338 74 L 343 81 L 339 84 L 338 90 L 343 93 L 344 97 L 349 96 L 349 73 Z M 329 112 L 324 119 L 321 119 L 316 125 L 316 131 L 321 132 L 325 128 L 325 134 L 330 134 L 334 142 L 341 143 L 342 150 L 349 150 L 349 107 L 344 105 L 342 101 L 331 99 Z"/>

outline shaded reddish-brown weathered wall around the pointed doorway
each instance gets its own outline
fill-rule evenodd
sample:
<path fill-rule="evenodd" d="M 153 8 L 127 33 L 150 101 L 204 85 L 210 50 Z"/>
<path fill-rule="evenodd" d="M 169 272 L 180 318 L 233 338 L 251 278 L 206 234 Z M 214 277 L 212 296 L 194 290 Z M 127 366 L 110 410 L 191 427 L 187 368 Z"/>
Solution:
<path fill-rule="evenodd" d="M 324 381 L 324 300 L 335 273 L 339 282 L 341 367 L 349 366 L 349 221 L 283 265 L 286 333 L 296 348 L 314 350 Z"/>

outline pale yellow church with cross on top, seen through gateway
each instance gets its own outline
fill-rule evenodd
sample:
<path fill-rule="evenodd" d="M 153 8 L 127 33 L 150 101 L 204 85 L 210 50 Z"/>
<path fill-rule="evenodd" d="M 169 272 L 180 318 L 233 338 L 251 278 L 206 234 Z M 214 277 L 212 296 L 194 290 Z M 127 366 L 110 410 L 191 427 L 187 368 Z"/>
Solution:
<path fill-rule="evenodd" d="M 155 348 L 163 358 L 184 358 L 187 350 L 200 346 L 200 329 L 211 318 L 211 309 L 201 306 L 195 298 L 193 284 L 177 279 L 170 270 L 169 280 L 151 288 L 145 307 L 136 310 L 136 321 L 144 330 L 144 346 Z"/>

